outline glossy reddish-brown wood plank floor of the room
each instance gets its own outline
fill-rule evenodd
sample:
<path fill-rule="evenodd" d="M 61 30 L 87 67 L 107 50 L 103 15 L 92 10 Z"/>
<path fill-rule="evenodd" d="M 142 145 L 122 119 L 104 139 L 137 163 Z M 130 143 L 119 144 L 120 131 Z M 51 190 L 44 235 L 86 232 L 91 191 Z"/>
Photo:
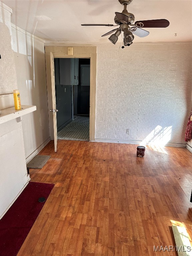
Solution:
<path fill-rule="evenodd" d="M 147 256 L 175 245 L 170 227 L 192 238 L 192 154 L 186 148 L 53 141 L 31 181 L 54 183 L 18 256 Z M 42 195 L 43 196 L 43 195 Z"/>

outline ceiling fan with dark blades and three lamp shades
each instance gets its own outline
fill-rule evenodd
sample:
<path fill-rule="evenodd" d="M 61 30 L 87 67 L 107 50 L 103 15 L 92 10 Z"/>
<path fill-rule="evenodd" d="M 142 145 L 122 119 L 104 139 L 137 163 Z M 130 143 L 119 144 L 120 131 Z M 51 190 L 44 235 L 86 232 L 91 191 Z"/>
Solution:
<path fill-rule="evenodd" d="M 114 21 L 117 25 L 113 24 L 81 24 L 81 26 L 119 26 L 108 33 L 102 35 L 107 36 L 115 32 L 109 37 L 109 40 L 116 44 L 118 36 L 123 31 L 123 44 L 124 46 L 130 46 L 133 43 L 134 35 L 139 37 L 145 37 L 149 35 L 149 32 L 142 29 L 143 28 L 166 28 L 169 26 L 169 21 L 165 19 L 158 20 L 141 20 L 136 21 L 135 24 L 132 24 L 135 21 L 135 16 L 132 13 L 127 11 L 127 5 L 132 2 L 132 0 L 118 0 L 120 4 L 124 5 L 123 11 L 115 12 Z M 133 35 L 134 34 L 134 35 Z M 124 48 L 122 46 L 122 48 Z"/>

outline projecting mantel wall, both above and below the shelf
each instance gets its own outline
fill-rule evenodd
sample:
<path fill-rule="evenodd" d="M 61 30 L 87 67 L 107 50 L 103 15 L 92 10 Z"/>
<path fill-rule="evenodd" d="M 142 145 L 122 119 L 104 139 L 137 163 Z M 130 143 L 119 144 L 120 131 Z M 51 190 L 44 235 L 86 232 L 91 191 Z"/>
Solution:
<path fill-rule="evenodd" d="M 0 94 L 17 89 L 12 10 L 0 2 Z M 0 124 L 0 218 L 28 181 L 21 119 Z"/>

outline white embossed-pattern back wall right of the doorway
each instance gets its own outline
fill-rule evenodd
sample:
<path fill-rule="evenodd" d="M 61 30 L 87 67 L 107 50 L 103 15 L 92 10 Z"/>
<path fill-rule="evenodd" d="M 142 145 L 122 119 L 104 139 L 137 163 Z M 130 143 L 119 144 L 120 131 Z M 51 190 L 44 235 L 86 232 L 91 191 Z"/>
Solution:
<path fill-rule="evenodd" d="M 99 46 L 96 140 L 185 144 L 191 90 L 190 42 Z"/>

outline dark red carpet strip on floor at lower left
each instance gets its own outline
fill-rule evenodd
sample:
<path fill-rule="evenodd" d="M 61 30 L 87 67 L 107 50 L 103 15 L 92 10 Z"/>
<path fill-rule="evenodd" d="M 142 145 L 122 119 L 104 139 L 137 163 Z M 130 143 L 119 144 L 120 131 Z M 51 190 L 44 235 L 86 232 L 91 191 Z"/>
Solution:
<path fill-rule="evenodd" d="M 0 256 L 16 256 L 37 219 L 54 184 L 29 182 L 14 204 L 0 220 Z"/>

